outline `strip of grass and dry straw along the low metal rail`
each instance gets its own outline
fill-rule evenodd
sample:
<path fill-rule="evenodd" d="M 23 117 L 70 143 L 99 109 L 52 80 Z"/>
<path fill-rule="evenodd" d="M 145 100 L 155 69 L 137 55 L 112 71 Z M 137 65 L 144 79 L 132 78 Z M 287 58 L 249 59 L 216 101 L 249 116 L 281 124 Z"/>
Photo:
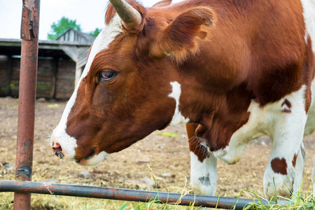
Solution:
<path fill-rule="evenodd" d="M 155 179 L 153 169 L 148 165 L 148 169 L 151 174 L 151 179 L 155 181 L 155 190 L 158 191 L 158 181 Z M 231 175 L 232 176 L 232 175 Z M 305 179 L 306 176 L 304 176 Z M 302 181 L 302 186 L 304 183 Z M 230 178 L 229 178 L 230 180 Z M 228 181 L 229 181 L 228 180 Z M 228 182 L 227 181 L 227 182 Z M 55 195 L 31 195 L 31 209 L 83 209 L 83 210 L 102 210 L 102 209 L 113 209 L 113 210 L 197 210 L 205 209 L 204 207 L 196 207 L 195 203 L 190 204 L 189 207 L 180 206 L 181 198 L 188 193 L 192 193 L 188 189 L 188 181 L 186 179 L 183 189 L 181 190 L 181 197 L 175 203 L 163 203 L 158 200 L 158 196 L 150 200 L 149 202 L 125 202 L 117 200 L 101 200 L 92 199 L 85 197 L 66 197 L 66 196 L 55 196 Z M 251 203 L 244 210 L 255 209 L 255 210 L 315 210 L 315 198 L 311 193 L 312 186 L 309 186 L 307 192 L 302 192 L 302 186 L 296 195 L 291 198 L 274 197 L 267 201 L 257 193 L 251 190 L 241 190 L 238 193 L 237 199 L 244 197 L 244 193 L 250 195 L 253 200 L 258 200 L 257 203 Z M 276 191 L 275 191 L 276 192 Z M 222 191 L 219 193 L 219 197 Z M 0 199 L 0 209 L 13 209 L 13 193 L 1 193 L 5 200 Z M 248 197 L 248 196 L 246 196 Z M 288 204 L 281 204 L 279 200 L 287 200 Z M 267 202 L 267 205 L 262 204 Z M 273 203 L 273 204 L 272 204 Z M 217 208 L 214 208 L 217 209 Z"/>

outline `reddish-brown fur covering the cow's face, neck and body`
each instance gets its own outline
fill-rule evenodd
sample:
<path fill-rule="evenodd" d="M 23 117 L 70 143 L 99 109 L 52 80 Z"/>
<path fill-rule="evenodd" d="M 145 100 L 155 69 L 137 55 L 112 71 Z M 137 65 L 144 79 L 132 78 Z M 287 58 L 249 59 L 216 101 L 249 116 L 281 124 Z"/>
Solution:
<path fill-rule="evenodd" d="M 307 85 L 308 111 L 315 64 L 300 1 L 196 0 L 154 8 L 129 2 L 141 26 L 123 29 L 94 58 L 69 115 L 66 132 L 78 140 L 77 158 L 94 148 L 118 152 L 167 126 L 172 81 L 182 87 L 179 110 L 199 125 L 188 130 L 197 128 L 211 151 L 225 148 L 247 123 L 251 100 L 265 106 Z M 114 14 L 109 6 L 107 24 Z M 120 73 L 99 84 L 102 69 Z"/>

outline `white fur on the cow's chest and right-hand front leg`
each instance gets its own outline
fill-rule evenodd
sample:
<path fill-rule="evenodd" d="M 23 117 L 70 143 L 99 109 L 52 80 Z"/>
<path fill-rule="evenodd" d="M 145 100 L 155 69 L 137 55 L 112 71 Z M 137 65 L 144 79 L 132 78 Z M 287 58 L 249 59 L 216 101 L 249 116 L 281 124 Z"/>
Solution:
<path fill-rule="evenodd" d="M 272 154 L 270 155 L 264 176 L 266 197 L 274 195 L 273 179 L 275 179 L 278 193 L 286 192 L 287 188 L 293 183 L 293 180 L 297 182 L 295 183 L 295 187 L 297 187 L 297 184 L 301 184 L 302 174 L 297 172 L 297 169 L 300 169 L 304 165 L 304 162 L 300 158 L 299 146 L 302 143 L 304 125 L 307 119 L 304 110 L 305 88 L 305 85 L 303 85 L 297 92 L 293 92 L 278 102 L 267 104 L 264 107 L 260 107 L 257 102 L 252 101 L 248 108 L 248 111 L 251 112 L 248 123 L 232 135 L 228 153 L 224 156 L 218 156 L 228 164 L 234 164 L 240 160 L 241 153 L 248 141 L 264 134 L 271 137 L 273 139 Z M 283 113 L 281 111 L 284 99 L 288 99 L 292 105 L 290 109 L 291 113 Z M 297 167 L 293 167 L 292 165 L 295 154 L 299 154 Z M 287 176 L 274 173 L 270 165 L 270 162 L 274 158 L 284 158 L 286 160 L 288 165 Z M 298 189 L 294 188 L 294 191 L 296 190 Z"/>

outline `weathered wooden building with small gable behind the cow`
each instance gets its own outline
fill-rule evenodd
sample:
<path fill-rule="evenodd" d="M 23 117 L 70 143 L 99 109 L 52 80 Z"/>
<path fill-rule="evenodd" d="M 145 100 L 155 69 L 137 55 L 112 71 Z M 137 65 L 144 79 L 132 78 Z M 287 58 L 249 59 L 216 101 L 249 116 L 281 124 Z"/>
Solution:
<path fill-rule="evenodd" d="M 38 41 L 36 97 L 69 99 L 94 37 L 69 29 L 55 41 Z M 0 97 L 18 97 L 20 39 L 0 38 Z"/>

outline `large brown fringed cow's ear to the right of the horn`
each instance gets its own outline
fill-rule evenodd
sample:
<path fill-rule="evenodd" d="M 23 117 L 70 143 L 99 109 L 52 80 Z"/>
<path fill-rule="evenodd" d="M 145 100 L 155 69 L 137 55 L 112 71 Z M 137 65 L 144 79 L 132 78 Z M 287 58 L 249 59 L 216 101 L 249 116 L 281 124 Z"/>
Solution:
<path fill-rule="evenodd" d="M 215 20 L 214 11 L 208 7 L 186 10 L 165 27 L 151 49 L 151 55 L 171 56 L 176 62 L 183 62 L 187 55 L 197 52 L 198 38 L 207 37 L 207 31 L 214 26 Z"/>

